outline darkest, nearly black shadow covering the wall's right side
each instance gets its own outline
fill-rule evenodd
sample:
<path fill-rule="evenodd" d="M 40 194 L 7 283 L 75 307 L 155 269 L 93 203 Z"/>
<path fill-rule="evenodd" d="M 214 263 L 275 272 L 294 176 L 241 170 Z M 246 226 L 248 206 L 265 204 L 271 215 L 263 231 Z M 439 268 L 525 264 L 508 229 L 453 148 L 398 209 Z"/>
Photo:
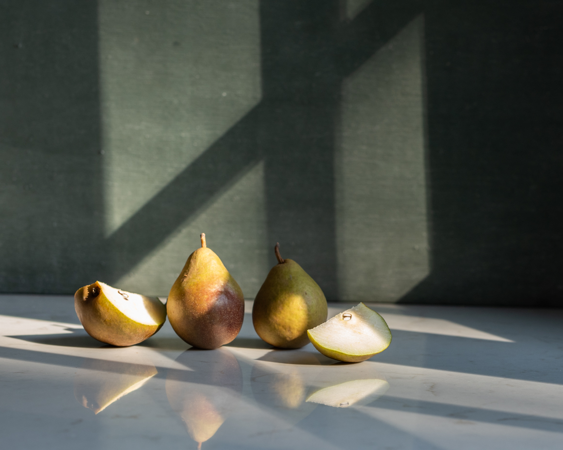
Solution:
<path fill-rule="evenodd" d="M 401 301 L 563 305 L 563 2 L 427 2 L 431 275 Z"/>

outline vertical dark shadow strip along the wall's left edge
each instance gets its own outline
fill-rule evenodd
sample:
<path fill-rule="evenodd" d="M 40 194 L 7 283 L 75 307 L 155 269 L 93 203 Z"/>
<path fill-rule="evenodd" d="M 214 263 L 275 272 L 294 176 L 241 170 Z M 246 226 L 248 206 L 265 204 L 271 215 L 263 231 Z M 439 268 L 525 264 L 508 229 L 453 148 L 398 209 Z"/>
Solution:
<path fill-rule="evenodd" d="M 2 1 L 0 37 L 0 286 L 70 293 L 104 264 L 97 4 Z"/>

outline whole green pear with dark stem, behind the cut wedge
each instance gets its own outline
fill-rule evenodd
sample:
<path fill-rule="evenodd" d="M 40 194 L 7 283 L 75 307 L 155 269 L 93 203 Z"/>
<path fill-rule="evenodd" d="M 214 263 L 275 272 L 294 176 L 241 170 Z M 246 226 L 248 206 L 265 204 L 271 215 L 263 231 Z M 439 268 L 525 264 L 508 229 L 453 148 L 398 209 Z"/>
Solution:
<path fill-rule="evenodd" d="M 307 330 L 327 319 L 327 299 L 307 272 L 291 259 L 283 259 L 279 243 L 274 248 L 279 264 L 272 267 L 254 299 L 254 330 L 279 348 L 309 344 Z"/>

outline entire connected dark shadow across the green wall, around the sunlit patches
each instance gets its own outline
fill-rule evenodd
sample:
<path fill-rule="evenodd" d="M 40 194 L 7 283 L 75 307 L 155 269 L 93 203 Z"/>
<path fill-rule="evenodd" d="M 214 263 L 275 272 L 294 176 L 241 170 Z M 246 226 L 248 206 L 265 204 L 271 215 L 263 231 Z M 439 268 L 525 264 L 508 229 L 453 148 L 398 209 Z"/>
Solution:
<path fill-rule="evenodd" d="M 374 0 L 342 20 L 338 1 L 262 1 L 261 103 L 108 239 L 96 4 L 1 8 L 3 291 L 119 280 L 264 160 L 269 242 L 338 299 L 341 83 L 423 12 L 431 273 L 400 301 L 561 305 L 562 2 Z"/>

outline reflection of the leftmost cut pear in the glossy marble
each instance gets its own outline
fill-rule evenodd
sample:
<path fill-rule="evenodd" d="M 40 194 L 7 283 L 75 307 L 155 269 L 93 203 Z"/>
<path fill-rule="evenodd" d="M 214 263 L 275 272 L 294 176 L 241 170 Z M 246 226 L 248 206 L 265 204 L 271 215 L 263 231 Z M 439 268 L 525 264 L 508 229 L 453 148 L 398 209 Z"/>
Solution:
<path fill-rule="evenodd" d="M 111 403 L 137 390 L 153 376 L 157 368 L 150 361 L 131 364 L 102 359 L 86 359 L 74 376 L 74 397 L 97 414 Z"/>

